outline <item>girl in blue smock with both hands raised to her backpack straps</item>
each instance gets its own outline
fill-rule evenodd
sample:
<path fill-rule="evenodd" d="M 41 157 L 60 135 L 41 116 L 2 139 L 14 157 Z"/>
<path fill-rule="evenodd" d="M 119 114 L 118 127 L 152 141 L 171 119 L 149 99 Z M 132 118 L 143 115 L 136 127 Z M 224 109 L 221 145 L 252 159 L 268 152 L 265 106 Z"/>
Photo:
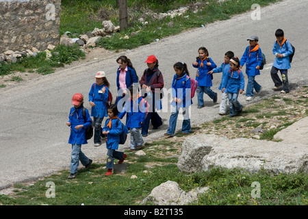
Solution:
<path fill-rule="evenodd" d="M 198 81 L 198 88 L 196 90 L 198 97 L 198 109 L 204 107 L 203 93 L 207 94 L 209 98 L 217 102 L 217 93 L 211 90 L 212 75 L 207 74 L 209 70 L 216 68 L 216 64 L 209 57 L 209 52 L 205 47 L 198 49 L 199 56 L 196 57 L 196 62 L 192 64 L 194 68 L 198 68 L 196 73 L 196 81 Z"/>

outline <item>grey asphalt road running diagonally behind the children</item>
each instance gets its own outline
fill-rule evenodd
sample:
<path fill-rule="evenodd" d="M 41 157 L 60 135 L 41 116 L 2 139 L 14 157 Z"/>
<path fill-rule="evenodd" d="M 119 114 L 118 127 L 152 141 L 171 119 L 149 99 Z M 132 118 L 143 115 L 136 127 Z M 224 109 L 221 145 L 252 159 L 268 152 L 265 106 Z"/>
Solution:
<path fill-rule="evenodd" d="M 271 90 L 273 83 L 270 78 L 270 68 L 274 62 L 272 46 L 275 40 L 274 32 L 281 28 L 285 37 L 296 47 L 296 54 L 289 71 L 292 88 L 296 84 L 307 84 L 307 22 L 308 1 L 282 1 L 266 8 L 261 8 L 261 19 L 253 20 L 251 12 L 234 16 L 227 21 L 218 21 L 206 27 L 172 36 L 153 42 L 152 44 L 123 53 L 133 62 L 138 76 L 141 77 L 148 55 L 156 55 L 159 69 L 164 75 L 165 88 L 171 88 L 172 68 L 175 62 L 186 62 L 191 75 L 195 74 L 192 62 L 198 55 L 198 48 L 207 47 L 209 55 L 220 65 L 224 53 L 233 51 L 242 57 L 246 39 L 251 35 L 259 36 L 259 44 L 266 54 L 268 64 L 256 77 L 263 86 L 261 95 L 253 102 L 274 94 Z M 66 126 L 73 94 L 81 92 L 86 96 L 85 106 L 88 104 L 88 92 L 94 83 L 94 74 L 99 70 L 107 73 L 111 83 L 111 91 L 116 94 L 116 58 L 121 54 L 111 55 L 104 60 L 89 62 L 81 66 L 74 66 L 57 70 L 53 75 L 47 75 L 20 83 L 12 88 L 0 90 L 0 189 L 12 183 L 30 181 L 48 175 L 57 170 L 70 166 L 71 146 L 68 144 L 70 129 Z M 212 89 L 218 92 L 221 74 L 214 75 Z M 221 94 L 218 92 L 218 103 L 214 103 L 205 96 L 205 105 L 201 110 L 196 109 L 196 96 L 192 106 L 192 125 L 198 125 L 214 118 L 218 118 Z M 246 105 L 245 96 L 241 95 L 240 102 Z M 251 103 L 253 103 L 251 102 Z M 145 141 L 162 138 L 168 129 L 170 112 L 160 113 L 164 118 L 161 129 L 150 130 Z M 104 120 L 105 121 L 105 120 Z M 178 123 L 181 128 L 181 122 Z M 129 142 L 129 140 L 127 141 Z M 120 147 L 129 149 L 129 144 Z M 92 140 L 83 146 L 83 151 L 94 160 L 105 157 L 105 144 L 94 147 Z"/>

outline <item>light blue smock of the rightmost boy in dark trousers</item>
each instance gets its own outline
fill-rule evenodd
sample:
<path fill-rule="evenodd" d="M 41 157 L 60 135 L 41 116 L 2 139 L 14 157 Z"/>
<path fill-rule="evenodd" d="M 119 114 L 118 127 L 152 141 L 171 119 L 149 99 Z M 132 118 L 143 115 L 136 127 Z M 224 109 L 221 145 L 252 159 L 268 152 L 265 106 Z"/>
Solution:
<path fill-rule="evenodd" d="M 282 40 L 281 40 L 282 42 Z M 276 59 L 274 60 L 274 66 L 278 69 L 290 69 L 290 57 L 293 53 L 292 46 L 288 40 L 283 43 L 282 47 L 278 44 L 277 40 L 274 42 L 274 47 L 272 48 L 272 53 L 276 56 Z M 283 57 L 277 57 L 277 54 L 283 54 Z"/>

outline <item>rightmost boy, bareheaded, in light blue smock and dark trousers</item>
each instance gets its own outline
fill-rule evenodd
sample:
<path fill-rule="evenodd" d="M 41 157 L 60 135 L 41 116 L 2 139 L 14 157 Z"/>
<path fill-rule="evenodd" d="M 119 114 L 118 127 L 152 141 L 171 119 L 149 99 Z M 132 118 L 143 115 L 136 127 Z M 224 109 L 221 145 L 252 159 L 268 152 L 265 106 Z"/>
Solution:
<path fill-rule="evenodd" d="M 287 77 L 287 70 L 291 68 L 290 55 L 293 53 L 292 45 L 285 39 L 285 34 L 282 29 L 277 29 L 275 32 L 277 40 L 274 42 L 272 53 L 276 56 L 270 76 L 274 82 L 273 90 L 277 90 L 283 86 L 282 94 L 290 92 L 289 79 Z M 282 81 L 278 76 L 280 70 Z"/>

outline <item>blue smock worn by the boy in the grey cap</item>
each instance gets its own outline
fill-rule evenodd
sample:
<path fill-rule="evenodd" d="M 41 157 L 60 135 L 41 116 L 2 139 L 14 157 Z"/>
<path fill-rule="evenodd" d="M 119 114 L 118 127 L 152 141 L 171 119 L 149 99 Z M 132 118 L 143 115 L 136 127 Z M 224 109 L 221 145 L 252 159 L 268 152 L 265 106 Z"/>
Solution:
<path fill-rule="evenodd" d="M 246 75 L 248 77 L 260 75 L 260 70 L 256 69 L 256 67 L 261 66 L 263 61 L 261 49 L 259 48 L 257 51 L 251 52 L 251 56 L 249 57 L 249 47 L 250 46 L 246 47 L 240 60 L 240 65 L 244 66 L 244 64 L 246 64 Z M 255 47 L 252 47 L 251 49 Z"/>

